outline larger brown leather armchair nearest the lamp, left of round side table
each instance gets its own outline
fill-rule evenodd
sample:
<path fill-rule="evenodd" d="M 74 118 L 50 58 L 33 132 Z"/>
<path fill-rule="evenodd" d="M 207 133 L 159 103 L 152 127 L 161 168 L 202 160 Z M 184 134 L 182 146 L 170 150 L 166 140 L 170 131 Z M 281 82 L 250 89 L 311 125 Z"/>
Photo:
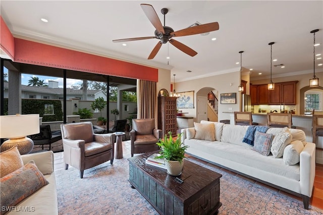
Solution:
<path fill-rule="evenodd" d="M 65 170 L 69 165 L 80 171 L 107 162 L 113 164 L 115 134 L 94 134 L 91 122 L 61 125 Z"/>

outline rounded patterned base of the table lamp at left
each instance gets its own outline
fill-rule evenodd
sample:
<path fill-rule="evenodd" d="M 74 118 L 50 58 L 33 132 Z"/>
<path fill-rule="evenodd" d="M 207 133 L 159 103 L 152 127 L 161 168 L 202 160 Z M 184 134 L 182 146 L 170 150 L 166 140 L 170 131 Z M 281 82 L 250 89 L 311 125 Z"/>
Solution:
<path fill-rule="evenodd" d="M 34 142 L 32 139 L 28 137 L 19 137 L 19 138 L 11 138 L 6 140 L 0 147 L 0 151 L 6 151 L 11 149 L 15 145 L 18 146 L 18 150 L 20 154 L 28 154 L 34 148 Z"/>

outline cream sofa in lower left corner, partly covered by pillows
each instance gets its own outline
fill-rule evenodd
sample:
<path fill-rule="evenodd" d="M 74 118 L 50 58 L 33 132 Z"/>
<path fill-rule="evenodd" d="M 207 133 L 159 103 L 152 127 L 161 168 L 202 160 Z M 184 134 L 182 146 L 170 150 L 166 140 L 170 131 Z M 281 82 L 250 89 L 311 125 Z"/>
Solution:
<path fill-rule="evenodd" d="M 38 170 L 49 182 L 16 205 L 16 209 L 6 214 L 58 214 L 56 179 L 54 173 L 54 153 L 44 151 L 21 155 L 24 165 L 34 160 Z"/>

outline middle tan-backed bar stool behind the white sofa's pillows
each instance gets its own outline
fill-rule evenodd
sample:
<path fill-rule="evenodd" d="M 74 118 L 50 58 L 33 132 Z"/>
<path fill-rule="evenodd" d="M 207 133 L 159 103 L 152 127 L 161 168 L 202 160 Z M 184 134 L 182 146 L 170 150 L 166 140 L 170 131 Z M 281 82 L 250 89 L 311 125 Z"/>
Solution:
<path fill-rule="evenodd" d="M 275 128 L 296 128 L 296 126 L 293 126 L 291 113 L 267 113 L 267 126 Z"/>

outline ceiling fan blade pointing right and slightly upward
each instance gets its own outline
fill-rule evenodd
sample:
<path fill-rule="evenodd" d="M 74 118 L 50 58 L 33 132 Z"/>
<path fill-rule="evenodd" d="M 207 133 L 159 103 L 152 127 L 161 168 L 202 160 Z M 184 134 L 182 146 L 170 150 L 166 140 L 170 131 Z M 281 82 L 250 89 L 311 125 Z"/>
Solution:
<path fill-rule="evenodd" d="M 218 22 L 211 22 L 207 24 L 197 25 L 194 27 L 184 28 L 179 31 L 175 31 L 172 33 L 174 36 L 188 36 L 194 34 L 202 34 L 210 31 L 219 30 L 219 23 Z"/>

